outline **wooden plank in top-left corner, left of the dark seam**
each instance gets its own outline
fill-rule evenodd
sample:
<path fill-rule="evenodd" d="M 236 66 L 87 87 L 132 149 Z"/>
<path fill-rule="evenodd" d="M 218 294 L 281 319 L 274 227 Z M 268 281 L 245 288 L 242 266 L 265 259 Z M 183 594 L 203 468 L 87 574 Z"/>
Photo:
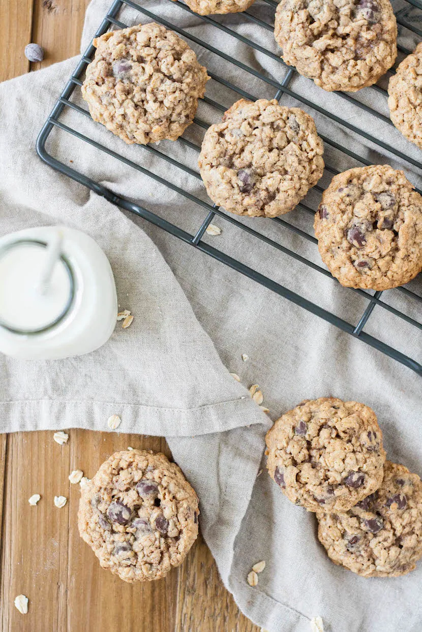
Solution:
<path fill-rule="evenodd" d="M 33 0 L 0 2 L 0 81 L 23 75 L 29 70 L 29 62 L 23 51 L 31 40 L 32 2 Z"/>

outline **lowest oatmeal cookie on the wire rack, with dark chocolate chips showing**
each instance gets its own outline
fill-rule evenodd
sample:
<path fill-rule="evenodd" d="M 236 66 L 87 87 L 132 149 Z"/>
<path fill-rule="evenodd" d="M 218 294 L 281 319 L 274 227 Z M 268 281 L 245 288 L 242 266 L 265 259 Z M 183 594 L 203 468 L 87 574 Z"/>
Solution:
<path fill-rule="evenodd" d="M 323 262 L 348 288 L 396 288 L 422 270 L 422 197 L 389 165 L 335 176 L 314 229 Z"/>

